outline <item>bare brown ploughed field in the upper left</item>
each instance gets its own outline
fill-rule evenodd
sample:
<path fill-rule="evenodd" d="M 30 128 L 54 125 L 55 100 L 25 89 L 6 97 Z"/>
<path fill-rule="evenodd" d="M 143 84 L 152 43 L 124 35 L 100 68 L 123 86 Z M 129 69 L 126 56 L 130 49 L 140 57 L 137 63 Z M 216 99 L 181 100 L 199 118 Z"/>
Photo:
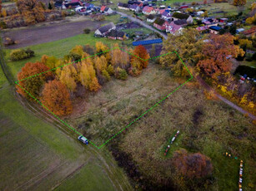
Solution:
<path fill-rule="evenodd" d="M 84 28 L 90 28 L 94 31 L 103 23 L 104 22 L 93 22 L 90 20 L 82 20 L 78 22 L 64 20 L 58 23 L 49 22 L 36 27 L 23 27 L 7 30 L 3 32 L 3 37 L 11 37 L 18 42 L 18 44 L 8 46 L 8 48 L 14 49 L 73 37 L 82 34 Z"/>

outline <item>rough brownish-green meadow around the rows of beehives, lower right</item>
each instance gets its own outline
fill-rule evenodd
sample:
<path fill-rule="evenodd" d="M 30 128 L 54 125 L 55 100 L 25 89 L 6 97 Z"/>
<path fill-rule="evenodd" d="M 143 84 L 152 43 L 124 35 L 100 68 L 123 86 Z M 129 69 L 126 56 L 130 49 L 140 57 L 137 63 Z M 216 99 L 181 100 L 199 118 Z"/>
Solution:
<path fill-rule="evenodd" d="M 224 152 L 231 153 L 243 159 L 243 189 L 253 190 L 255 126 L 236 110 L 221 101 L 207 100 L 202 93 L 198 86 L 188 82 L 188 86 L 131 126 L 116 144 L 136 161 L 143 179 L 149 180 L 175 181 L 170 157 L 177 149 L 207 155 L 212 159 L 213 178 L 204 189 L 198 190 L 238 189 L 239 161 L 223 156 Z M 181 134 L 164 157 L 163 150 L 177 130 Z"/>

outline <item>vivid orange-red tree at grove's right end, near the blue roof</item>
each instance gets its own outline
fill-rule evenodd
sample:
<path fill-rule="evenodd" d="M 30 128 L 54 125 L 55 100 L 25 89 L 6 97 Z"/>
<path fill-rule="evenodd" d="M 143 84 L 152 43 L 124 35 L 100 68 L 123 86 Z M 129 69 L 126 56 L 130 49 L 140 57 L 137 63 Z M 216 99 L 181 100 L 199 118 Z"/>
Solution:
<path fill-rule="evenodd" d="M 133 56 L 131 58 L 131 65 L 134 66 L 134 63 L 136 64 L 138 70 L 142 70 L 143 68 L 146 68 L 148 66 L 148 59 L 150 58 L 148 51 L 145 47 L 142 45 L 139 45 L 134 48 L 133 50 Z"/>

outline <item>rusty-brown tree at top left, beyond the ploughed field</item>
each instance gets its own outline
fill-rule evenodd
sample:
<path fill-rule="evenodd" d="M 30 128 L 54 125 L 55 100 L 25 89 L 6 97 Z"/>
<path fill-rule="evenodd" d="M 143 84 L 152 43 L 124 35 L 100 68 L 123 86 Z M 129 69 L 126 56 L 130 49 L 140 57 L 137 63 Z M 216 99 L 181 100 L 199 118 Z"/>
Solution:
<path fill-rule="evenodd" d="M 17 7 L 28 25 L 45 21 L 43 6 L 37 0 L 18 0 Z"/>

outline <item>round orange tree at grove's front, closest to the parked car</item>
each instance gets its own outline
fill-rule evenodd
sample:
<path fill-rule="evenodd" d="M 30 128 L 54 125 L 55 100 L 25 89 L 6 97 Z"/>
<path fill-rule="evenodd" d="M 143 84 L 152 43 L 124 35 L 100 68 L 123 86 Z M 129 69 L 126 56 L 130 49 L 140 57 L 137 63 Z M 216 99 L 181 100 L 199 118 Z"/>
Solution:
<path fill-rule="evenodd" d="M 45 84 L 41 102 L 55 115 L 68 115 L 73 110 L 67 87 L 57 80 Z"/>

